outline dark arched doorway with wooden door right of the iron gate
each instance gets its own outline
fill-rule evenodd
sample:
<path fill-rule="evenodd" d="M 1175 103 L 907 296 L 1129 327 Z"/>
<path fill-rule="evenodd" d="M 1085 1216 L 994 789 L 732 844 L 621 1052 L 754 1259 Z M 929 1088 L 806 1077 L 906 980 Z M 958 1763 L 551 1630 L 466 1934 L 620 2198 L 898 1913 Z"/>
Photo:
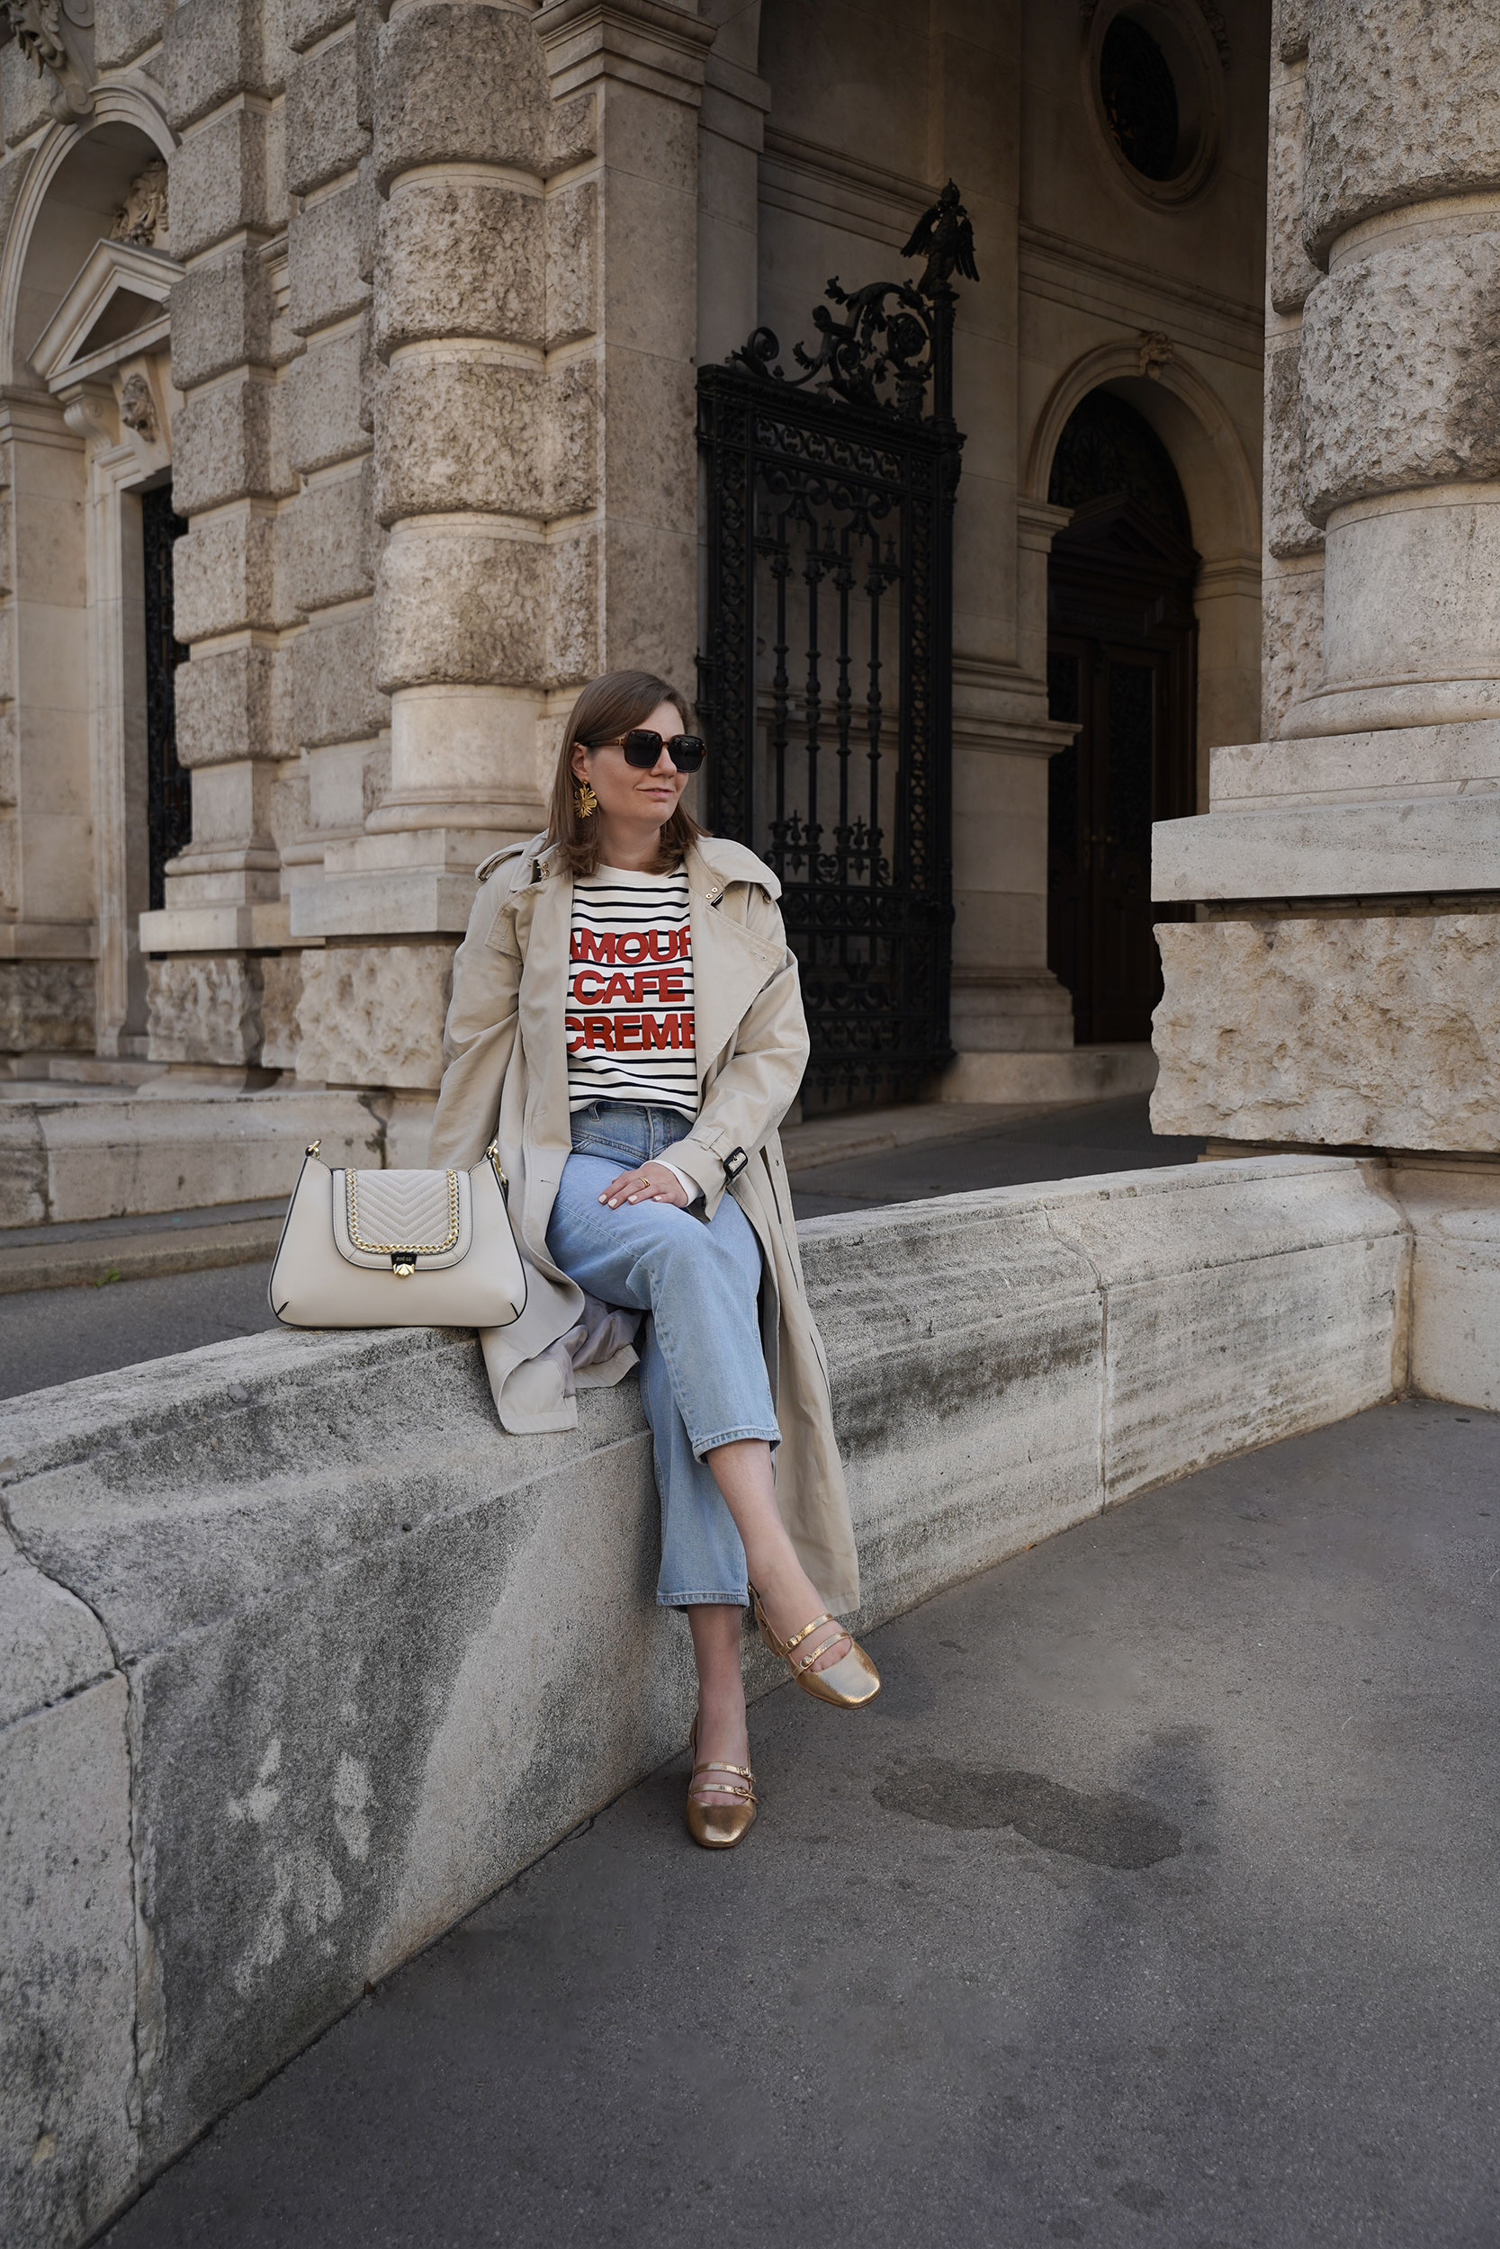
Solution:
<path fill-rule="evenodd" d="M 1079 1046 L 1151 1037 L 1160 999 L 1151 821 L 1194 810 L 1196 553 L 1167 448 L 1113 391 L 1068 416 L 1048 499 L 1048 706 L 1075 724 L 1048 774 L 1048 967 Z"/>

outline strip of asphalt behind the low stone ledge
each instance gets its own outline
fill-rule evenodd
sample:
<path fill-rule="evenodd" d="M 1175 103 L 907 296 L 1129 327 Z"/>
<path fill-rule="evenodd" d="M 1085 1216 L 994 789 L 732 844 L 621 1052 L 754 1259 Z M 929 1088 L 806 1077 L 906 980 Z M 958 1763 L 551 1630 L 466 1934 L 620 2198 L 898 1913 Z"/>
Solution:
<path fill-rule="evenodd" d="M 1158 1140 L 1151 1133 L 1147 1102 L 1149 1095 L 1140 1093 L 1052 1116 L 1032 1113 L 981 1133 L 967 1131 L 956 1140 L 922 1140 L 882 1154 L 843 1156 L 796 1172 L 792 1203 L 798 1219 L 812 1219 L 830 1210 L 866 1210 L 873 1203 L 920 1201 L 929 1194 L 1192 1163 L 1203 1142 Z M 940 1122 L 940 1111 L 924 1122 Z M 202 1219 L 205 1212 L 189 1217 Z M 121 1228 L 139 1230 L 144 1223 L 148 1221 L 117 1219 L 94 1228 L 58 1228 L 58 1239 L 99 1235 L 97 1248 L 108 1273 L 115 1235 Z M 173 1223 L 178 1221 L 157 1221 L 162 1228 Z M 31 1228 L 25 1239 L 31 1241 L 40 1232 Z M 164 1358 L 169 1352 L 191 1352 L 200 1343 L 254 1336 L 277 1325 L 265 1302 L 268 1280 L 270 1262 L 256 1262 L 205 1273 L 81 1282 L 0 1295 L 0 1397 L 67 1383 L 81 1374 L 108 1374 L 144 1358 Z"/>

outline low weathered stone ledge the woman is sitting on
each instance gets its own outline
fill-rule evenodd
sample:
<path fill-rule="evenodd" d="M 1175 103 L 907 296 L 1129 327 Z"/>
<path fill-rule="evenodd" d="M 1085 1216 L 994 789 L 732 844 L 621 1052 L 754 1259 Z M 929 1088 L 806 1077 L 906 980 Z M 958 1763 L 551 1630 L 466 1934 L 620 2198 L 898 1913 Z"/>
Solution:
<path fill-rule="evenodd" d="M 1010 1187 L 801 1239 L 866 1626 L 1399 1381 L 1408 1232 L 1352 1160 Z M 76 1741 L 74 1698 L 16 1799 L 27 1835 L 88 1813 L 121 1896 L 139 1873 L 137 1954 L 119 1900 L 97 1916 L 108 1975 L 47 2166 L 31 2107 L 0 2098 L 0 2224 L 47 2249 L 677 1750 L 693 1689 L 650 1599 L 634 1381 L 587 1392 L 576 1433 L 515 1439 L 470 1336 L 286 1331 L 13 1399 L 0 1460 L 31 1577 L 108 1637 L 133 1743 L 126 1797 L 124 1729 Z M 27 1959 L 70 1957 L 83 1873 L 0 1912 Z M 72 2035 L 67 1977 L 22 1999 L 36 2040 Z M 139 2119 L 128 2148 L 106 2114 Z"/>

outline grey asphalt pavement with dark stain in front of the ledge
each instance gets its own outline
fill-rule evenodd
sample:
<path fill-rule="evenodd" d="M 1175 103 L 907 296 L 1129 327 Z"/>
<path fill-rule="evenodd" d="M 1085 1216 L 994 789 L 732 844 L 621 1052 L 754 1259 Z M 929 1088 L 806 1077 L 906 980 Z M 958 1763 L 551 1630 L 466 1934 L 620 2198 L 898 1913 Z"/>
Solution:
<path fill-rule="evenodd" d="M 1131 1500 L 632 1788 L 110 2249 L 1493 2249 L 1500 1417 Z M 609 1682 L 600 1680 L 600 1693 Z"/>

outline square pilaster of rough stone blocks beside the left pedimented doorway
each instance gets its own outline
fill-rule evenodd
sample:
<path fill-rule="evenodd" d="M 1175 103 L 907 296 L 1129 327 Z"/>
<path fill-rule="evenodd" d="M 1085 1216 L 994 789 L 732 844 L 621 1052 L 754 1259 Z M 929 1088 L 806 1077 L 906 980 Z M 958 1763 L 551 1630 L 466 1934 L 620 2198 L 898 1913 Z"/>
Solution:
<path fill-rule="evenodd" d="M 162 31 L 164 103 L 182 146 L 169 164 L 178 758 L 193 776 L 193 837 L 142 915 L 148 1055 L 256 1066 L 263 958 L 286 942 L 274 834 L 297 612 L 281 567 L 290 495 L 279 371 L 288 358 L 277 286 L 281 193 L 281 11 L 270 0 L 178 9 Z"/>

